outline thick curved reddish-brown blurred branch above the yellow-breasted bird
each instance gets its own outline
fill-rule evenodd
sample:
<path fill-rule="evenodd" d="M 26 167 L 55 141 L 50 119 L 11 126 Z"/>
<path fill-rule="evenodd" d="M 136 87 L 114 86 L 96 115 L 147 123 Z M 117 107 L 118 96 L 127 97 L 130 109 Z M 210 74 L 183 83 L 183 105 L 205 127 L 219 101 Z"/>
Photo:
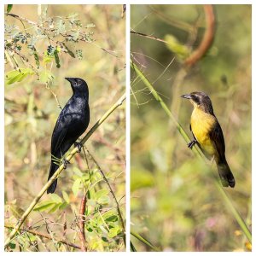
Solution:
<path fill-rule="evenodd" d="M 193 66 L 195 62 L 199 61 L 201 57 L 206 54 L 207 49 L 211 47 L 214 38 L 215 16 L 212 5 L 204 5 L 204 10 L 206 15 L 207 29 L 199 47 L 195 49 L 193 53 L 184 61 L 184 64 L 188 67 Z"/>

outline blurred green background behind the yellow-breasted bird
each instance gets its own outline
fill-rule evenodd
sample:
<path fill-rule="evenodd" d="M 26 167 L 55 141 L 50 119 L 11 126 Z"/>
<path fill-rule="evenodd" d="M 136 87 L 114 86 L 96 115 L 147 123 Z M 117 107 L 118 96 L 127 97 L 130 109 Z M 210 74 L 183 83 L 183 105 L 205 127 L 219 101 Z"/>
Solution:
<path fill-rule="evenodd" d="M 192 106 L 180 96 L 205 91 L 211 97 L 236 177 L 236 188 L 226 191 L 251 228 L 252 9 L 214 5 L 214 11 L 212 47 L 189 68 L 182 63 L 201 43 L 203 6 L 132 5 L 131 31 L 151 38 L 132 33 L 131 58 L 191 138 Z M 205 164 L 132 70 L 131 80 L 131 230 L 162 251 L 250 250 Z M 212 172 L 218 176 L 215 164 Z M 137 251 L 151 250 L 131 241 Z"/>

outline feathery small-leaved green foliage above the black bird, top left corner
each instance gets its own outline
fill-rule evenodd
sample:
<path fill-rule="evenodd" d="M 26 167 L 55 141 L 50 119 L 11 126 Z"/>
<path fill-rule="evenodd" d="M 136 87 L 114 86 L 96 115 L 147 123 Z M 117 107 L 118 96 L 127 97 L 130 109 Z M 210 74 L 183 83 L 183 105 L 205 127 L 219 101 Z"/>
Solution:
<path fill-rule="evenodd" d="M 6 22 L 4 26 L 4 57 L 5 62 L 9 62 L 11 67 L 15 67 L 14 71 L 6 73 L 7 84 L 20 82 L 26 78 L 28 74 L 36 74 L 41 82 L 49 82 L 53 77 L 52 73 L 45 71 L 49 68 L 47 64 L 55 61 L 56 67 L 61 67 L 59 55 L 67 53 L 73 58 L 83 58 L 82 49 L 75 49 L 74 44 L 79 41 L 91 43 L 93 42 L 93 32 L 88 29 L 95 27 L 93 23 L 83 25 L 79 20 L 78 13 L 72 13 L 67 16 L 49 16 L 48 5 L 38 4 L 38 21 L 27 20 L 20 15 L 10 14 L 12 7 L 7 6 L 6 15 L 16 20 L 20 20 L 22 26 L 16 26 L 11 22 Z M 26 25 L 31 26 L 27 28 Z M 38 47 L 40 43 L 45 45 L 45 50 L 40 52 Z M 69 46 L 70 45 L 70 46 Z M 71 50 L 72 47 L 75 50 Z M 28 57 L 26 57 L 28 55 Z M 26 72 L 21 70 L 17 58 L 20 59 L 26 67 Z M 40 59 L 42 61 L 40 61 Z"/>

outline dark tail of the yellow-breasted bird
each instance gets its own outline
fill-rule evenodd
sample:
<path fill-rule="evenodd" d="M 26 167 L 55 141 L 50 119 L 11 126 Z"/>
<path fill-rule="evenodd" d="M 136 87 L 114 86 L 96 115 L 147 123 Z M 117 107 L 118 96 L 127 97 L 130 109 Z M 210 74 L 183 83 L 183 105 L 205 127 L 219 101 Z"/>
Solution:
<path fill-rule="evenodd" d="M 235 177 L 230 171 L 230 166 L 228 165 L 227 161 L 226 160 L 222 162 L 218 161 L 217 167 L 218 167 L 218 174 L 219 174 L 222 185 L 224 187 L 230 186 L 231 188 L 234 188 L 236 185 Z"/>

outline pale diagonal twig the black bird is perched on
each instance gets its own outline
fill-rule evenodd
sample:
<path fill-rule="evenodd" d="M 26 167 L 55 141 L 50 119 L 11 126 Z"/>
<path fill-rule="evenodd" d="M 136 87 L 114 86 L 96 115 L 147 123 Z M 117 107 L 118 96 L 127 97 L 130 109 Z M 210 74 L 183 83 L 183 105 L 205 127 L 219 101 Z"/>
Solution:
<path fill-rule="evenodd" d="M 113 111 L 118 108 L 122 103 L 125 101 L 125 94 L 119 98 L 119 100 L 113 104 L 111 108 L 108 109 L 106 113 L 103 114 L 102 118 L 99 119 L 96 124 L 88 131 L 88 133 L 84 136 L 81 143 L 84 144 L 90 136 L 96 131 L 96 129 L 102 125 L 102 123 L 108 118 L 108 116 L 113 113 Z M 70 154 L 67 155 L 67 160 L 70 161 L 73 159 L 73 156 L 79 152 L 79 148 L 73 148 L 73 150 L 70 152 Z M 44 185 L 44 187 L 40 190 L 38 195 L 33 199 L 30 206 L 26 209 L 26 211 L 22 214 L 20 217 L 20 220 L 15 225 L 14 230 L 9 234 L 9 237 L 4 242 L 4 247 L 7 247 L 9 245 L 9 242 L 15 237 L 18 230 L 20 230 L 21 225 L 24 223 L 30 212 L 32 212 L 32 209 L 37 205 L 38 201 L 41 199 L 41 197 L 44 195 L 44 192 L 49 188 L 49 186 L 55 181 L 57 177 L 59 177 L 60 173 L 64 170 L 64 165 L 61 164 L 61 166 L 56 170 L 55 174 L 49 179 L 49 181 Z"/>

